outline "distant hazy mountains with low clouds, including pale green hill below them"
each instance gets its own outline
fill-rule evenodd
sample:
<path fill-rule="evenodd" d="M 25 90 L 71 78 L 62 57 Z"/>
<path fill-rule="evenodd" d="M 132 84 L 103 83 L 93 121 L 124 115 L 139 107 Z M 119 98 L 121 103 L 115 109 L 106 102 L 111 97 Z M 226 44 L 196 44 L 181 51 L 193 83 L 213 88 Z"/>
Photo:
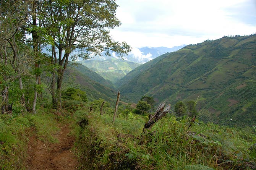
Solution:
<path fill-rule="evenodd" d="M 177 51 L 184 46 L 185 45 L 181 45 L 173 48 L 143 47 L 133 49 L 129 55 L 125 57 L 125 60 L 116 58 L 115 54 L 112 54 L 111 57 L 96 56 L 91 60 L 79 60 L 79 63 L 95 71 L 104 79 L 110 80 L 113 84 L 115 84 L 118 80 L 123 78 L 127 73 L 142 63 L 146 63 L 164 53 Z"/>

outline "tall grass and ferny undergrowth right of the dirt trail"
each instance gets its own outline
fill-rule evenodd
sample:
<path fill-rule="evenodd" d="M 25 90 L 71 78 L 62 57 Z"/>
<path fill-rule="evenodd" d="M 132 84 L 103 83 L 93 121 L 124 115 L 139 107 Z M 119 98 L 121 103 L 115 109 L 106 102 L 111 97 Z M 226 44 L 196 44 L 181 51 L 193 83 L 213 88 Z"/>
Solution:
<path fill-rule="evenodd" d="M 86 120 L 76 147 L 82 169 L 250 170 L 256 168 L 254 134 L 168 116 L 142 133 L 147 117 L 75 113 Z M 81 116 L 83 115 L 83 116 Z M 245 138 L 246 136 L 246 138 Z"/>

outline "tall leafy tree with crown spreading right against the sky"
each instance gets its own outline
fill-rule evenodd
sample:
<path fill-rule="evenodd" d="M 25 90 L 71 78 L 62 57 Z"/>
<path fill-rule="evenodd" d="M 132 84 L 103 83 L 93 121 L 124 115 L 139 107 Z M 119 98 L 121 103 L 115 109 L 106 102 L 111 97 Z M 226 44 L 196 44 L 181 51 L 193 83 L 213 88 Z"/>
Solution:
<path fill-rule="evenodd" d="M 63 74 L 70 60 L 101 56 L 102 52 L 106 55 L 116 52 L 122 57 L 130 51 L 130 46 L 115 42 L 109 35 L 109 29 L 121 24 L 115 16 L 115 0 L 46 0 L 43 6 L 42 25 L 53 40 L 52 64 L 57 65 L 56 95 L 55 71 L 52 71 L 53 107 L 61 108 Z"/>

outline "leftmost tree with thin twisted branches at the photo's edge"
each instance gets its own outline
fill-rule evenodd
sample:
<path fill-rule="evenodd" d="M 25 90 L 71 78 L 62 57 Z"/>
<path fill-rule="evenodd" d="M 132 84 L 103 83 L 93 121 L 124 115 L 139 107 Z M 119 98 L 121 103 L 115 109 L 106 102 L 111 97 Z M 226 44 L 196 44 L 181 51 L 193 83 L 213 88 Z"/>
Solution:
<path fill-rule="evenodd" d="M 28 16 L 29 1 L 2 0 L 0 2 L 0 73 L 1 80 L 1 110 L 8 105 L 10 84 L 19 80 L 21 89 L 21 105 L 25 107 L 23 83 L 21 76 L 25 75 L 26 66 L 34 62 L 30 47 L 24 44 L 25 33 L 22 31 Z"/>

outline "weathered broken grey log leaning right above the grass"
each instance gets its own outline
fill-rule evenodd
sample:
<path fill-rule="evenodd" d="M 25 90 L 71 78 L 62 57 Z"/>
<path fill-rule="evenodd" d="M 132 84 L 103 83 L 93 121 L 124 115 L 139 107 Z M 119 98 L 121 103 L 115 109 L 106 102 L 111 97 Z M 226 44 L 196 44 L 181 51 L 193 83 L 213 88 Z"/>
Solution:
<path fill-rule="evenodd" d="M 162 117 L 165 116 L 166 113 L 169 112 L 169 110 L 171 109 L 171 105 L 168 104 L 167 107 L 164 109 L 165 103 L 161 103 L 159 105 L 159 107 L 156 110 L 156 113 L 152 116 L 149 115 L 149 121 L 147 121 L 147 123 L 145 123 L 144 128 L 143 128 L 143 132 L 145 133 L 145 130 L 151 130 L 152 126 L 158 121 L 160 120 Z"/>

